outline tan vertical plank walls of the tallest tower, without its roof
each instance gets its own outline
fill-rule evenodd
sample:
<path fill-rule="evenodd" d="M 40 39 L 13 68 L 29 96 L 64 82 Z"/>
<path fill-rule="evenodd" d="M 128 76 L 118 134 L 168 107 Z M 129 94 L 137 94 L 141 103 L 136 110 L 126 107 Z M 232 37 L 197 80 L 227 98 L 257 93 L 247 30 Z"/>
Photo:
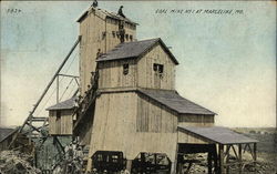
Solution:
<path fill-rule="evenodd" d="M 126 34 L 131 34 L 135 39 L 135 27 L 125 25 Z M 99 10 L 89 12 L 88 17 L 80 22 L 80 35 L 82 35 L 80 44 L 80 90 L 82 95 L 90 84 L 91 72 L 95 71 L 98 50 L 100 49 L 102 53 L 106 53 L 117 45 L 120 43 L 117 31 L 119 21 L 106 18 Z M 115 37 L 113 33 L 115 33 Z"/>

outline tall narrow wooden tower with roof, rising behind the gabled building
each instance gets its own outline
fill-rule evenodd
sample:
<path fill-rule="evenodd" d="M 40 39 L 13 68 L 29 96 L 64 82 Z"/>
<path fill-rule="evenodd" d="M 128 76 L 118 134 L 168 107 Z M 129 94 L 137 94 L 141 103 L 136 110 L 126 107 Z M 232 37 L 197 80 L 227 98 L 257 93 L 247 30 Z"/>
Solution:
<path fill-rule="evenodd" d="M 88 90 L 96 58 L 121 42 L 136 40 L 136 23 L 112 12 L 91 7 L 79 19 L 81 94 Z"/>

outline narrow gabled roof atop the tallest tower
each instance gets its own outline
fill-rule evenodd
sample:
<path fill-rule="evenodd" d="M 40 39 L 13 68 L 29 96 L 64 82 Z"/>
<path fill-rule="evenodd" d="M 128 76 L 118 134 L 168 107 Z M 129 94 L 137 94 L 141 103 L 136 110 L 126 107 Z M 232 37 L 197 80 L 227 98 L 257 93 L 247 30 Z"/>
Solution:
<path fill-rule="evenodd" d="M 123 20 L 125 22 L 129 22 L 131 24 L 137 24 L 135 22 L 133 22 L 132 20 L 127 19 L 127 18 L 123 18 L 121 16 L 119 16 L 117 13 L 114 13 L 114 12 L 109 12 L 106 10 L 103 10 L 103 9 L 99 9 L 99 8 L 94 8 L 94 7 L 90 7 L 88 10 L 85 10 L 81 17 L 76 20 L 78 22 L 82 22 L 82 20 L 84 18 L 86 18 L 86 16 L 91 12 L 91 11 L 98 11 L 98 12 L 101 12 L 102 14 L 104 14 L 105 17 L 107 18 L 112 18 L 112 19 L 115 19 L 115 20 Z"/>

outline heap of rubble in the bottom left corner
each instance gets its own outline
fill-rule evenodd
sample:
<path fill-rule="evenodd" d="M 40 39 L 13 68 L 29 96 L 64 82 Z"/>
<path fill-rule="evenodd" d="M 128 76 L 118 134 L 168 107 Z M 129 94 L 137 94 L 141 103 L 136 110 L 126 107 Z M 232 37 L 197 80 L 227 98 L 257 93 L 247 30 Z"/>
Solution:
<path fill-rule="evenodd" d="M 32 157 L 18 151 L 0 152 L 0 174 L 40 174 L 31 166 Z"/>

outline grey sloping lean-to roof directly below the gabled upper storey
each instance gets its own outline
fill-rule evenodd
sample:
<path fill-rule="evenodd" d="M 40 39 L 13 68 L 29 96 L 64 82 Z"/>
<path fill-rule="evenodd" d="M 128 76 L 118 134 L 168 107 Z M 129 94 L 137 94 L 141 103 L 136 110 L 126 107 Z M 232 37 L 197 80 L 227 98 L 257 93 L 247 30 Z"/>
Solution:
<path fill-rule="evenodd" d="M 141 93 L 150 96 L 151 99 L 166 105 L 167 108 L 178 112 L 188 114 L 204 114 L 214 115 L 216 113 L 182 98 L 176 91 L 172 90 L 146 90 L 140 89 Z"/>

